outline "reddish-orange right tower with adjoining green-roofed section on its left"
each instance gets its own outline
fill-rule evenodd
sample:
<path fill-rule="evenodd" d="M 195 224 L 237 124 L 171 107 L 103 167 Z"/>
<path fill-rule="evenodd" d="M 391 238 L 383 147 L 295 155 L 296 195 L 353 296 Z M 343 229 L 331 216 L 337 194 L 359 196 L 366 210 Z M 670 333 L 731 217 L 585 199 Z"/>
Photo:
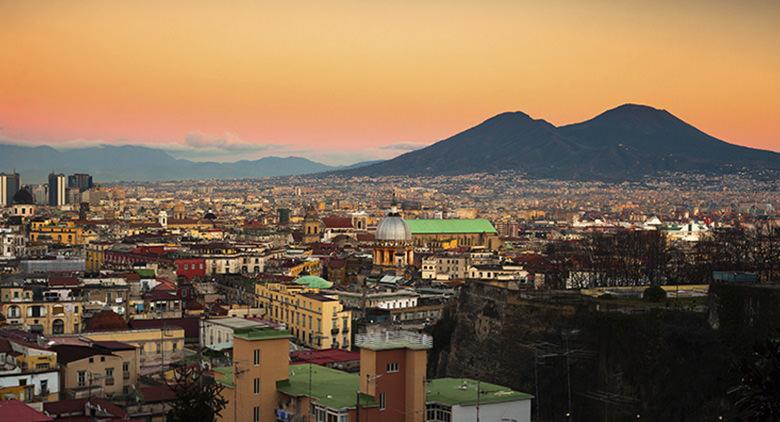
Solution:
<path fill-rule="evenodd" d="M 319 365 L 290 366 L 277 383 L 279 420 L 423 422 L 427 335 L 405 331 L 358 335 L 359 374 Z"/>

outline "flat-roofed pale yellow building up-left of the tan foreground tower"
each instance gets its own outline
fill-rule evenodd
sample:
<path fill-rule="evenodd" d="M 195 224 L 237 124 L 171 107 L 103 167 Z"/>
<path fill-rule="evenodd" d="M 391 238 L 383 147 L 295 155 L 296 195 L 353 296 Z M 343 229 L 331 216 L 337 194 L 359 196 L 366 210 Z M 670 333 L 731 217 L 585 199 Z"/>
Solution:
<path fill-rule="evenodd" d="M 138 372 L 148 375 L 184 359 L 184 329 L 168 327 L 84 333 L 92 341 L 118 341 L 138 348 Z"/>

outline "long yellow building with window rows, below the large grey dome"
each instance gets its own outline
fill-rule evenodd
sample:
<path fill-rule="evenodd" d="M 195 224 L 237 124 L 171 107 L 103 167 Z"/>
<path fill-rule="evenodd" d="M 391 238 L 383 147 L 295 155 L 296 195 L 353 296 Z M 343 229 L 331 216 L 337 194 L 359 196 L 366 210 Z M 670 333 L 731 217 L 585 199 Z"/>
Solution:
<path fill-rule="evenodd" d="M 292 284 L 257 284 L 258 307 L 265 318 L 286 324 L 298 342 L 313 349 L 349 349 L 352 312 L 345 311 L 338 298 L 323 295 L 333 283 L 316 276 L 304 276 Z"/>

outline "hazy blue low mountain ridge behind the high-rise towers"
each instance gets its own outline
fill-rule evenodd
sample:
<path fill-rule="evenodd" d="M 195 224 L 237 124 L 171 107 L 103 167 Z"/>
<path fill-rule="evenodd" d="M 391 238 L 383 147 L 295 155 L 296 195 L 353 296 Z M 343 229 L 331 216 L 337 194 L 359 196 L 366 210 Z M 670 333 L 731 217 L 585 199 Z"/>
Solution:
<path fill-rule="evenodd" d="M 337 168 L 301 157 L 214 163 L 176 159 L 161 149 L 131 145 L 60 151 L 48 146 L 0 144 L 0 171 L 16 169 L 22 183 L 43 182 L 52 171 L 90 173 L 97 181 L 150 181 L 292 176 Z"/>

